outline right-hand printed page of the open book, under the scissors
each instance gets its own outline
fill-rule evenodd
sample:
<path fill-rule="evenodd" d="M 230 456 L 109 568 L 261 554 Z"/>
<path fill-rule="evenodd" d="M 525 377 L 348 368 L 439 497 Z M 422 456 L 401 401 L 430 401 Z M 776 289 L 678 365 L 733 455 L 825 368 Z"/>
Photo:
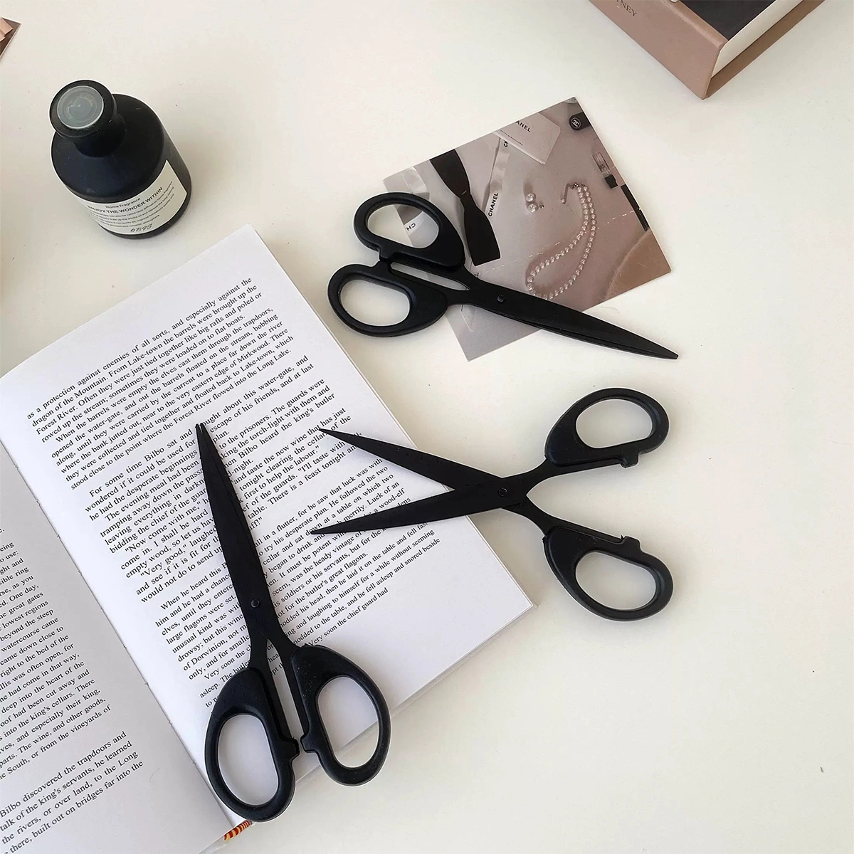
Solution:
<path fill-rule="evenodd" d="M 407 442 L 249 227 L 32 357 L 0 393 L 3 442 L 200 767 L 210 706 L 249 638 L 196 423 L 292 640 L 352 658 L 390 708 L 530 606 L 467 519 L 308 534 L 441 487 L 317 430 Z M 301 734 L 281 672 L 278 685 Z M 342 745 L 374 716 L 357 688 L 338 695 L 327 726 Z"/>

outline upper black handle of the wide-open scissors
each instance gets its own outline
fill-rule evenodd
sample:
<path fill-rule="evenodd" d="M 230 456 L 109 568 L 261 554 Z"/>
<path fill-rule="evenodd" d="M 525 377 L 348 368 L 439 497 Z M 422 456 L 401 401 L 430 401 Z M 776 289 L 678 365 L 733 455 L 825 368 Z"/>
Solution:
<path fill-rule="evenodd" d="M 649 436 L 609 447 L 588 445 L 578 435 L 578 418 L 584 410 L 600 401 L 629 401 L 643 409 L 652 421 Z M 553 465 L 569 466 L 576 471 L 613 463 L 635 465 L 641 453 L 652 451 L 664 442 L 668 430 L 670 420 L 667 418 L 667 412 L 664 412 L 664 407 L 652 397 L 632 389 L 600 389 L 582 397 L 564 412 L 553 426 L 546 440 L 546 459 Z"/>

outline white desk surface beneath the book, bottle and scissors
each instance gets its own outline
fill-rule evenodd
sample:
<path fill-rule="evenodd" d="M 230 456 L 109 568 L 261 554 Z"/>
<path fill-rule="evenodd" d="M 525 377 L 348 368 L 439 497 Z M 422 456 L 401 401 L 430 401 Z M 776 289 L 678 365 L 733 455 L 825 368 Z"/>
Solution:
<path fill-rule="evenodd" d="M 356 789 L 316 776 L 231 854 L 850 854 L 851 5 L 826 0 L 700 102 L 586 0 L 6 0 L 3 370 L 252 223 L 420 447 L 497 473 L 606 385 L 670 412 L 628 471 L 551 482 L 551 512 L 638 535 L 676 576 L 608 623 L 534 527 L 477 518 L 538 609 L 395 717 Z M 193 178 L 184 219 L 99 231 L 50 166 L 84 77 L 148 102 Z M 646 360 L 538 333 L 468 364 L 445 321 L 344 329 L 330 272 L 389 173 L 576 96 L 673 271 L 595 310 Z M 449 592 L 450 594 L 451 592 Z"/>

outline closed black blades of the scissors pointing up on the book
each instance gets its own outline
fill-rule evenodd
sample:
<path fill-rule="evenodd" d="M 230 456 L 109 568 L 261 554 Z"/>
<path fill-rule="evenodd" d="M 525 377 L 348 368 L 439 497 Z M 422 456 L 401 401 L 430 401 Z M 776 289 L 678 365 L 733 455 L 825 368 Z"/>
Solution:
<path fill-rule="evenodd" d="M 267 619 L 277 620 L 249 523 L 204 424 L 196 424 L 196 439 L 199 442 L 213 525 L 246 624 L 251 627 Z M 253 606 L 253 603 L 256 604 Z"/>

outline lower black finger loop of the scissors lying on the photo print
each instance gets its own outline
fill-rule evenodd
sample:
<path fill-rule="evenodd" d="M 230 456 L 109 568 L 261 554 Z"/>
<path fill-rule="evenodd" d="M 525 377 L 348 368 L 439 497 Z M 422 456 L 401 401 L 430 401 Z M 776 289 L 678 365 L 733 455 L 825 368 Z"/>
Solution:
<path fill-rule="evenodd" d="M 394 288 L 406 295 L 409 300 L 407 316 L 398 323 L 387 325 L 365 323 L 354 317 L 344 307 L 341 295 L 348 282 L 356 279 L 373 282 L 382 285 L 383 288 Z M 453 294 L 453 291 L 450 293 Z M 435 324 L 451 303 L 442 285 L 408 276 L 404 272 L 393 271 L 382 261 L 372 267 L 361 264 L 342 267 L 330 278 L 327 295 L 333 311 L 350 329 L 378 338 L 406 335 L 407 332 L 417 332 L 419 329 Z"/>

